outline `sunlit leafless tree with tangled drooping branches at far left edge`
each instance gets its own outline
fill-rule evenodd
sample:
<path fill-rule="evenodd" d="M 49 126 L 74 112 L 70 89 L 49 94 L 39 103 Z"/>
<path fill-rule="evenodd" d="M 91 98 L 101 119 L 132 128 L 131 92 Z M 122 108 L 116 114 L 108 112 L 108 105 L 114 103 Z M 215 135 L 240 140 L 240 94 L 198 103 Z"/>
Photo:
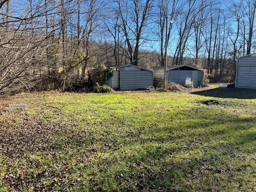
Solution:
<path fill-rule="evenodd" d="M 40 23 L 34 20 L 45 14 L 40 2 L 35 8 L 24 8 L 23 14 L 18 17 L 10 15 L 10 1 L 6 2 L 8 17 L 11 19 L 0 23 L 0 26 L 8 24 L 8 28 L 0 28 L 0 93 L 10 88 L 14 90 L 16 84 L 21 84 L 29 90 L 28 79 L 31 79 L 33 73 L 36 75 L 36 63 L 33 61 L 37 56 L 42 56 L 47 47 L 46 34 L 40 32 Z M 12 25 L 9 26 L 10 23 Z"/>

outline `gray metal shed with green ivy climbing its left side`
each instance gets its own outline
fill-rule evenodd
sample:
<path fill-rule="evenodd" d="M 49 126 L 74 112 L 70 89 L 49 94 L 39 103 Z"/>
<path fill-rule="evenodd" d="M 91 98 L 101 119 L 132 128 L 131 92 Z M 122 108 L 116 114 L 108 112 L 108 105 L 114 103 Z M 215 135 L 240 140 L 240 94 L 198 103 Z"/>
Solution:
<path fill-rule="evenodd" d="M 96 71 L 91 71 L 92 83 L 107 84 L 117 90 L 139 90 L 153 86 L 153 72 L 151 70 L 131 64 L 114 66 L 114 68 L 113 76 L 107 82 L 99 79 Z"/>

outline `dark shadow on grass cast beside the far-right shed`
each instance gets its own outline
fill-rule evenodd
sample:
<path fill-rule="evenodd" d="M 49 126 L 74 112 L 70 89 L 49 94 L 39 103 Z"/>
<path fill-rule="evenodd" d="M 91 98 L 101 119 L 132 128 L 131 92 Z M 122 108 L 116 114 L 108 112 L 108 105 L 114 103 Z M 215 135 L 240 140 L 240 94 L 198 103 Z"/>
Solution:
<path fill-rule="evenodd" d="M 256 90 L 254 89 L 234 89 L 234 88 L 214 88 L 203 91 L 191 92 L 191 94 L 219 97 L 219 98 L 238 98 L 255 99 Z"/>

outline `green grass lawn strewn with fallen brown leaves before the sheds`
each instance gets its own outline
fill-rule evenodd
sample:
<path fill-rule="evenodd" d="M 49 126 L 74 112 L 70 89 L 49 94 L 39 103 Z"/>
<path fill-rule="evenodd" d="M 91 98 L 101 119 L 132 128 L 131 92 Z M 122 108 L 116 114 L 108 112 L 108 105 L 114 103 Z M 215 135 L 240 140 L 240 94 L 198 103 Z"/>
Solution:
<path fill-rule="evenodd" d="M 206 99 L 229 105 L 195 102 Z M 0 104 L 0 192 L 256 190 L 254 90 L 25 93 Z"/>

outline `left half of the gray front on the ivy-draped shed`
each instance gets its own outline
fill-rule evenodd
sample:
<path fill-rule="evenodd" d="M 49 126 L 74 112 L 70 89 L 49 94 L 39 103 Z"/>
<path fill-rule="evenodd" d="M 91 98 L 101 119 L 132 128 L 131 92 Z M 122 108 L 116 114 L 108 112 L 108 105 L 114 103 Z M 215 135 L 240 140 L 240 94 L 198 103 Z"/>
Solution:
<path fill-rule="evenodd" d="M 120 90 L 136 90 L 136 71 L 119 71 Z"/>

